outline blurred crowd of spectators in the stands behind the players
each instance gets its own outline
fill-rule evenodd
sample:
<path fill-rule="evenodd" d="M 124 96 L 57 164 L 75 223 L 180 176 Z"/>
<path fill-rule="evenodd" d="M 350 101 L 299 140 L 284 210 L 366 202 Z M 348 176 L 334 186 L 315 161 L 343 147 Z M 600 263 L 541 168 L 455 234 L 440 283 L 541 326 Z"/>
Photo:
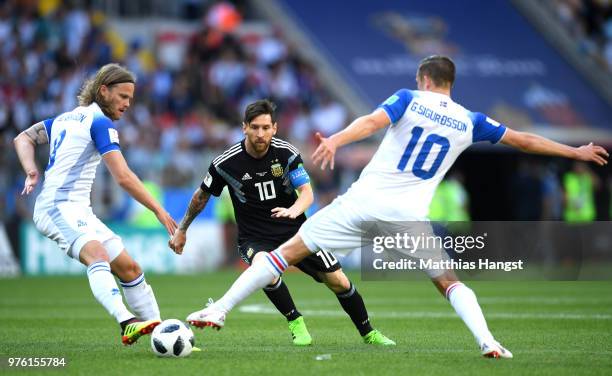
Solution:
<path fill-rule="evenodd" d="M 568 13 L 572 17 L 590 14 L 579 9 L 591 2 L 557 3 L 560 14 L 568 13 L 566 8 L 572 10 Z M 185 4 L 198 8 L 203 3 Z M 592 30 L 585 35 L 610 34 L 609 14 L 608 6 L 607 18 L 597 18 L 597 27 L 580 23 L 584 30 Z M 17 199 L 23 174 L 13 151 L 13 137 L 37 121 L 74 108 L 83 79 L 109 62 L 123 63 L 138 77 L 135 101 L 117 126 L 129 165 L 152 189 L 196 187 L 211 158 L 242 137 L 243 109 L 256 99 L 270 98 L 278 105 L 277 136 L 294 143 L 304 156 L 310 155 L 315 132 L 331 134 L 353 117 L 326 90 L 313 64 L 300 57 L 273 25 L 256 18 L 247 5 L 207 3 L 201 16 L 186 22 L 194 25 L 194 31 L 179 64 L 170 66 L 160 59 L 159 46 L 138 38 L 126 40 L 98 9 L 61 1 L 0 1 L 1 222 L 31 218 L 36 197 Z M 610 35 L 607 38 L 606 54 L 612 62 Z M 41 167 L 48 159 L 42 149 L 38 155 Z M 345 189 L 372 152 L 365 147 L 351 151 L 350 158 L 339 156 L 333 174 L 321 174 L 307 165 L 317 206 L 326 205 Z M 127 219 L 131 201 L 106 169 L 99 173 L 102 176 L 92 196 L 97 215 L 103 220 Z M 548 205 L 552 195 L 556 214 L 546 218 L 559 219 L 562 172 L 532 173 L 526 168 L 517 173 L 516 181 L 521 179 L 539 187 L 530 191 L 536 204 L 526 202 L 525 196 L 516 200 L 526 208 L 536 208 Z M 605 182 L 600 186 L 606 189 Z M 515 219 L 537 219 L 520 207 Z"/>

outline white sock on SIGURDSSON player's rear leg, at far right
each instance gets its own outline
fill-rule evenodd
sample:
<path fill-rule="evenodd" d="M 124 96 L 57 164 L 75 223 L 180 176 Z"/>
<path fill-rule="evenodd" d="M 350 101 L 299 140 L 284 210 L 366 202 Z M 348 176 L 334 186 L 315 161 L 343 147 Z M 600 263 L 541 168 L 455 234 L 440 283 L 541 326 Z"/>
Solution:
<path fill-rule="evenodd" d="M 472 289 L 461 282 L 453 283 L 446 290 L 446 298 L 470 329 L 478 346 L 482 345 L 483 342 L 493 340 L 493 335 L 487 327 L 487 321 Z"/>

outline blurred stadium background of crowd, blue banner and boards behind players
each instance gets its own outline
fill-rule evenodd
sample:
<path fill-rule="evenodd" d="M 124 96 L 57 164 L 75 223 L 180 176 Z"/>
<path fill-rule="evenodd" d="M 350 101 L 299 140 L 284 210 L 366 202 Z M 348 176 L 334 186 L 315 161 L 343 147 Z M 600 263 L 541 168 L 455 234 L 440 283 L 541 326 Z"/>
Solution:
<path fill-rule="evenodd" d="M 316 204 L 356 179 L 376 140 L 346 148 L 333 173 L 309 166 L 313 134 L 331 134 L 401 87 L 418 61 L 450 55 L 454 98 L 518 130 L 612 148 L 612 4 L 606 0 L 2 0 L 0 1 L 0 276 L 73 274 L 32 226 L 35 192 L 12 139 L 76 106 L 85 77 L 109 62 L 138 76 L 118 123 L 131 168 L 178 220 L 212 158 L 242 137 L 249 102 L 279 107 L 278 136 L 302 151 Z M 39 166 L 48 149 L 39 148 Z M 40 188 L 40 187 L 39 187 Z M 432 205 L 441 220 L 610 220 L 612 174 L 501 146 L 468 150 Z M 100 168 L 94 212 L 146 271 L 237 263 L 231 202 L 209 203 L 176 257 L 155 217 Z M 194 234 L 197 234 L 195 236 Z M 592 255 L 612 258 L 604 237 Z M 354 265 L 351 260 L 347 266 Z"/>

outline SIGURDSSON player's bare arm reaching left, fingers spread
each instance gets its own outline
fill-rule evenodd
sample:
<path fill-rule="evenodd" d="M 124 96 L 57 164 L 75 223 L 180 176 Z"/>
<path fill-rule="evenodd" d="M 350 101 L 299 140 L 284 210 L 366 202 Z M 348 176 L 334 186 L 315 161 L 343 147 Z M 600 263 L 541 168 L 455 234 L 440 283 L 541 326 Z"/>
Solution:
<path fill-rule="evenodd" d="M 321 170 L 324 170 L 327 165 L 333 170 L 336 149 L 351 142 L 370 137 L 389 124 L 391 124 L 391 120 L 385 111 L 376 109 L 371 114 L 358 117 L 348 127 L 328 138 L 323 137 L 317 132 L 316 136 L 319 146 L 312 154 L 312 162 L 315 166 L 321 164 Z"/>

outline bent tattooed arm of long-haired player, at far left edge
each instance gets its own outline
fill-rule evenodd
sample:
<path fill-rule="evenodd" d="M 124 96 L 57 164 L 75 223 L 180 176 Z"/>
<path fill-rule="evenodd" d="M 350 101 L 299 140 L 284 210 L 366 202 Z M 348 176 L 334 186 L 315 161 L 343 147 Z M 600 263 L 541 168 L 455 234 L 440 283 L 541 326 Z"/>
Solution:
<path fill-rule="evenodd" d="M 21 192 L 22 195 L 30 194 L 40 179 L 40 173 L 38 172 L 35 158 L 36 145 L 48 143 L 49 138 L 47 137 L 45 125 L 42 122 L 36 123 L 19 133 L 13 140 L 19 162 L 21 162 L 21 167 L 23 167 L 26 173 L 25 184 Z"/>

